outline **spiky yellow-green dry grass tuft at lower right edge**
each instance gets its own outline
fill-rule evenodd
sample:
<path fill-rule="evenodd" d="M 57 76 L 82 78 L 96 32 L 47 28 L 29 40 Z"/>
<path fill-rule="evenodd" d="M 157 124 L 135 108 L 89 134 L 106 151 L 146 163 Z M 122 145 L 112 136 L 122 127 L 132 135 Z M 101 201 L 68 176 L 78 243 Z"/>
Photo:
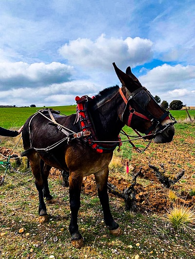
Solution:
<path fill-rule="evenodd" d="M 191 233 L 195 229 L 195 209 L 176 204 L 167 212 L 167 220 L 178 232 Z"/>

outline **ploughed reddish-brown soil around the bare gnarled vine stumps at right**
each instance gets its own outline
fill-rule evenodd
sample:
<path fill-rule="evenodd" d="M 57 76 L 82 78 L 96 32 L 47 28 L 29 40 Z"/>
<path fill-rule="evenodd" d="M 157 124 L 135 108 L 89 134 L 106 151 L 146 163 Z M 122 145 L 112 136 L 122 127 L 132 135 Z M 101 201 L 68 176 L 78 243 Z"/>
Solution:
<path fill-rule="evenodd" d="M 10 152 L 8 148 L 0 147 L 0 153 L 5 156 Z M 137 208 L 140 211 L 153 213 L 164 213 L 170 207 L 171 201 L 167 197 L 168 188 L 162 185 L 156 177 L 155 171 L 149 167 L 149 164 L 156 166 L 161 172 L 161 164 L 164 166 L 165 176 L 175 179 L 184 169 L 184 176 L 171 189 L 177 195 L 177 203 L 188 206 L 195 205 L 195 196 L 190 195 L 195 190 L 195 147 L 194 136 L 177 134 L 173 142 L 169 144 L 152 145 L 141 154 L 133 151 L 132 160 L 129 161 L 131 173 L 137 173 L 142 167 L 141 175 L 137 177 L 136 199 Z M 125 164 L 126 161 L 122 161 Z M 50 177 L 62 179 L 59 170 L 52 168 Z M 108 182 L 115 185 L 121 192 L 131 185 L 132 176 L 125 172 L 110 173 Z M 90 195 L 97 195 L 95 178 L 93 175 L 83 179 L 83 191 Z M 113 194 L 110 194 L 113 195 Z"/>

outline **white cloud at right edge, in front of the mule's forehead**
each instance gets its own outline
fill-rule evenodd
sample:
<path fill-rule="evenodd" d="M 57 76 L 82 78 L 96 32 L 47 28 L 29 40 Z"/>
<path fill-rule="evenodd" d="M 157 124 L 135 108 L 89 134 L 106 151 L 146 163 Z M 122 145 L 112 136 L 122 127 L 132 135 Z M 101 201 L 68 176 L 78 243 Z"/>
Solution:
<path fill-rule="evenodd" d="M 195 66 L 164 64 L 139 77 L 140 82 L 155 96 L 169 103 L 180 98 L 183 103 L 195 106 Z"/>

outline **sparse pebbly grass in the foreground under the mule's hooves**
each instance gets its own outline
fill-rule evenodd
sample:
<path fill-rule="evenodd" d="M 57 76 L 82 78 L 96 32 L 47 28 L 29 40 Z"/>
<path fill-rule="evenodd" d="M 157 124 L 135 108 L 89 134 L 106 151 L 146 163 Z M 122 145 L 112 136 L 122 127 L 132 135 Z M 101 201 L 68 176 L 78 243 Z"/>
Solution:
<path fill-rule="evenodd" d="M 16 180 L 17 179 L 17 180 Z M 68 226 L 70 208 L 68 188 L 49 179 L 55 192 L 56 203 L 47 204 L 49 222 L 38 221 L 38 194 L 30 172 L 11 172 L 1 187 L 0 203 L 0 258 L 1 259 L 139 259 L 169 258 L 166 249 L 174 251 L 172 258 L 193 258 L 193 252 L 185 249 L 186 236 L 181 234 L 179 242 L 171 230 L 163 229 L 164 222 L 156 215 L 125 212 L 123 202 L 111 197 L 111 210 L 123 230 L 115 238 L 109 234 L 103 222 L 103 214 L 97 196 L 86 195 L 82 189 L 78 225 L 85 246 L 80 250 L 71 246 Z M 12 188 L 7 184 L 12 183 Z M 22 185 L 20 184 L 22 183 Z M 64 199 L 67 198 L 67 199 Z M 9 215 L 9 216 L 8 216 Z M 23 228 L 24 231 L 19 233 Z M 193 239 L 193 238 L 192 238 Z M 189 240 L 189 238 L 188 238 Z M 193 240 L 189 242 L 193 243 Z M 138 245 L 139 243 L 139 245 Z M 176 249 L 175 249 L 176 247 Z M 166 254 L 168 253 L 168 254 Z"/>

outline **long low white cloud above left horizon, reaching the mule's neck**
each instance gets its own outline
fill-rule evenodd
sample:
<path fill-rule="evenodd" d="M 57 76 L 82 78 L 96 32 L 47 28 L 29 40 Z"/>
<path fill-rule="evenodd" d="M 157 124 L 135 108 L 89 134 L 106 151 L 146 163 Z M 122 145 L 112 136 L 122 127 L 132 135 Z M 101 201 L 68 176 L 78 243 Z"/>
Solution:
<path fill-rule="evenodd" d="M 33 103 L 37 107 L 70 105 L 76 103 L 76 95 L 92 96 L 100 90 L 98 85 L 87 80 L 75 80 L 37 88 L 9 89 L 1 91 L 0 104 L 30 106 Z"/>

